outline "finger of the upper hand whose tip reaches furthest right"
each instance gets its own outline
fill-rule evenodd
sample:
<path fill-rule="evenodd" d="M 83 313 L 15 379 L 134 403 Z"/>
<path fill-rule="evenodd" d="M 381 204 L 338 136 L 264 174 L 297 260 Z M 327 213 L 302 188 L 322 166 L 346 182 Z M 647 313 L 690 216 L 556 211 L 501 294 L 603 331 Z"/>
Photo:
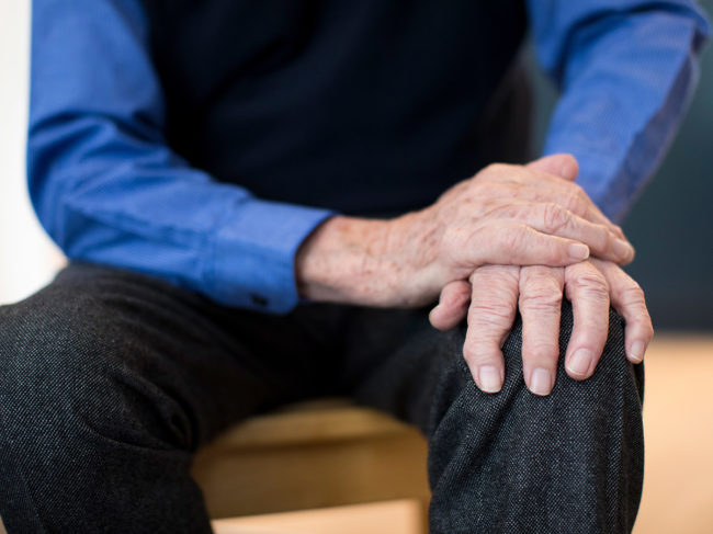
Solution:
<path fill-rule="evenodd" d="M 517 220 L 544 234 L 581 241 L 592 255 L 603 260 L 624 264 L 634 258 L 634 248 L 608 226 L 591 223 L 554 202 L 513 202 L 490 215 Z"/>

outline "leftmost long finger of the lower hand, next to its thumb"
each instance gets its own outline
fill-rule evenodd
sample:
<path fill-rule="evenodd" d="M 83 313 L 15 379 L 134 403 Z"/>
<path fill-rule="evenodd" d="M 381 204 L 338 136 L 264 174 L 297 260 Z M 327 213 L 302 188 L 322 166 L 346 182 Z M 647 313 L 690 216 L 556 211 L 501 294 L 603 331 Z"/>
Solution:
<path fill-rule="evenodd" d="M 485 393 L 499 391 L 505 380 L 500 349 L 514 321 L 519 271 L 510 265 L 485 265 L 471 275 L 473 293 L 463 357 Z"/>

